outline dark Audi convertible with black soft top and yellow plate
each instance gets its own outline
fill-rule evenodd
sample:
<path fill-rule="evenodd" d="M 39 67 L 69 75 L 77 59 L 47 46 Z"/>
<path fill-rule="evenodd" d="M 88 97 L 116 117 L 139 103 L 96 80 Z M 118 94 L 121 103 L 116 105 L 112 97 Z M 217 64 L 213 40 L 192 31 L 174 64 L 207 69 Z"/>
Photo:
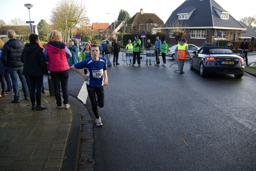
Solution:
<path fill-rule="evenodd" d="M 244 75 L 244 60 L 224 46 L 206 46 L 198 52 L 194 51 L 190 59 L 190 69 L 200 71 L 200 76 L 206 74 L 234 74 L 236 78 Z"/>

